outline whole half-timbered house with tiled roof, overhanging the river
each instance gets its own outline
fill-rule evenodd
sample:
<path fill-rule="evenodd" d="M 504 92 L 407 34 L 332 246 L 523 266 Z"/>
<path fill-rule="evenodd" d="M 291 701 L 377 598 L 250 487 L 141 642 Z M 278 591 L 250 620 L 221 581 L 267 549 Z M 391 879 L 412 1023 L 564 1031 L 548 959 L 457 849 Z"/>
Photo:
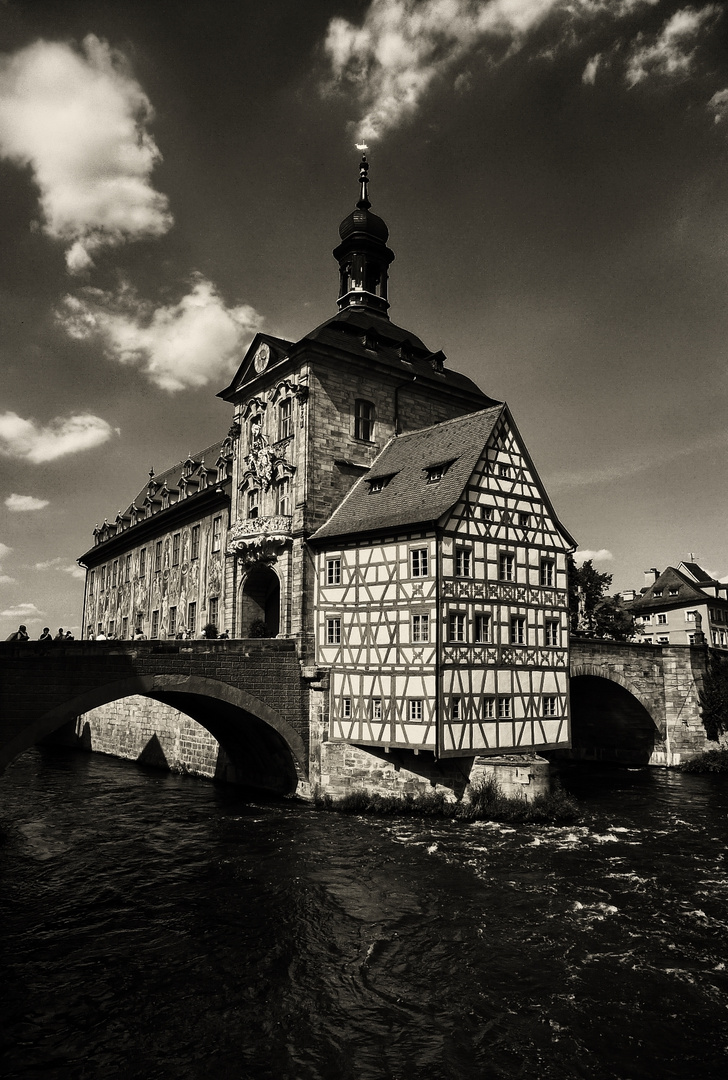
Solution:
<path fill-rule="evenodd" d="M 568 741 L 572 540 L 505 406 L 394 437 L 311 543 L 332 738 L 440 756 Z"/>

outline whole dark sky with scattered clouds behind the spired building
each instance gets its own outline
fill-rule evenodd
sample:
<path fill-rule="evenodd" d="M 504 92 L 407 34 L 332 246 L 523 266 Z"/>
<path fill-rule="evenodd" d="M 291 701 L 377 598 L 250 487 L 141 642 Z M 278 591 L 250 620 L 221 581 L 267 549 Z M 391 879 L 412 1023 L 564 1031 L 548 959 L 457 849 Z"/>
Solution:
<path fill-rule="evenodd" d="M 0 0 L 0 637 L 336 311 L 368 146 L 390 315 L 504 400 L 581 557 L 728 578 L 728 10 Z"/>

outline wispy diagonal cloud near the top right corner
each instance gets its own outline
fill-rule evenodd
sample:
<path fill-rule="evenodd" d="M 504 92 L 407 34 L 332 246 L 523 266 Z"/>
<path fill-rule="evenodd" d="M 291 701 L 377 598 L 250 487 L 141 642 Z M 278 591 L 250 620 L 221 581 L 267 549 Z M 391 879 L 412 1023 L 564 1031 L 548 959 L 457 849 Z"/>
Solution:
<path fill-rule="evenodd" d="M 635 86 L 648 76 L 687 76 L 693 64 L 697 38 L 720 14 L 717 4 L 683 8 L 668 19 L 651 41 L 637 35 L 626 65 L 626 82 Z"/>

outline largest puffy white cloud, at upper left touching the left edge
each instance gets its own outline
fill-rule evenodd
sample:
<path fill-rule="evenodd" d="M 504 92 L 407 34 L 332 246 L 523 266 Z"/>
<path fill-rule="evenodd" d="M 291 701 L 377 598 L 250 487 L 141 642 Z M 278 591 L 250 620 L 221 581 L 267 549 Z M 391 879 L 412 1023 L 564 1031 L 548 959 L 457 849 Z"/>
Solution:
<path fill-rule="evenodd" d="M 69 245 L 71 273 L 102 247 L 172 226 L 150 184 L 161 157 L 151 119 L 124 56 L 93 33 L 80 51 L 41 40 L 0 57 L 0 153 L 31 166 L 43 231 Z"/>

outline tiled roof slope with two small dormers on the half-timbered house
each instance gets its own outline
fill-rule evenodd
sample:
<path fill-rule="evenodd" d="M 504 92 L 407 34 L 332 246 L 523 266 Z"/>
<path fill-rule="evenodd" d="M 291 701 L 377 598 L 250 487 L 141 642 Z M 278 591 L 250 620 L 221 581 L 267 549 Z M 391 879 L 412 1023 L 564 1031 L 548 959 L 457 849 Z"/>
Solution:
<path fill-rule="evenodd" d="M 395 435 L 312 541 L 435 522 L 455 505 L 503 410 L 502 405 Z M 428 483 L 431 465 L 449 463 Z M 380 491 L 372 481 L 391 477 Z"/>

